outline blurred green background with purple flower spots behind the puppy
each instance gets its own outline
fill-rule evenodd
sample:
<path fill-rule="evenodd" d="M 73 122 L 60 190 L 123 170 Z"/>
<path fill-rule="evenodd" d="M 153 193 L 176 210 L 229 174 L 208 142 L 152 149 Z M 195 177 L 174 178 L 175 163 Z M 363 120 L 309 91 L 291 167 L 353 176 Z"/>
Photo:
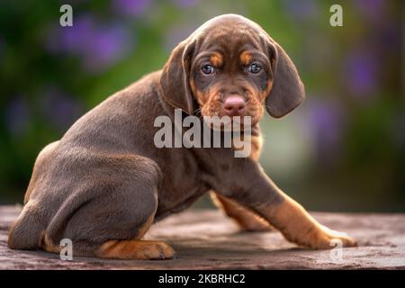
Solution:
<path fill-rule="evenodd" d="M 40 149 L 80 115 L 236 13 L 286 49 L 306 85 L 302 106 L 262 121 L 268 175 L 310 210 L 405 211 L 402 3 L 0 0 L 0 203 L 23 202 Z M 61 4 L 73 27 L 59 25 Z M 343 27 L 329 25 L 332 4 Z"/>

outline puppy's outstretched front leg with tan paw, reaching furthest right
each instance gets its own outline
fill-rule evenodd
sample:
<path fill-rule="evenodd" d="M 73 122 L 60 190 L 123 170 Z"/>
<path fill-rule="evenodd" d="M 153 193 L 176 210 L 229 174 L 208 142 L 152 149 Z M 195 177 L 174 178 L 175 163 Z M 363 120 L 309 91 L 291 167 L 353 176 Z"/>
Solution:
<path fill-rule="evenodd" d="M 246 172 L 248 171 L 248 173 Z M 229 197 L 257 212 L 289 241 L 304 247 L 326 249 L 334 247 L 332 239 L 339 239 L 343 247 L 356 246 L 346 233 L 320 225 L 298 202 L 283 193 L 257 163 L 244 169 L 243 183 Z"/>

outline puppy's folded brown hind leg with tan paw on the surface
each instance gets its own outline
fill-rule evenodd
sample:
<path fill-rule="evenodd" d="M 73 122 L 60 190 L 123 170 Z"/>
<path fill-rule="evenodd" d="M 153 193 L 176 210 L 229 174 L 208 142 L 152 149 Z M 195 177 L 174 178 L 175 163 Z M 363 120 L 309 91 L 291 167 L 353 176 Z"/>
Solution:
<path fill-rule="evenodd" d="M 78 196 L 79 204 L 72 199 L 72 208 L 67 203 L 65 211 L 58 211 L 46 231 L 43 248 L 58 253 L 60 239 L 68 238 L 73 257 L 175 257 L 166 243 L 141 239 L 157 211 L 157 165 L 144 157 L 121 157 L 114 163 L 110 169 L 103 168 L 103 175 L 92 175 L 95 181 L 91 184 L 81 184 L 85 191 L 76 194 L 85 194 L 85 198 Z"/>

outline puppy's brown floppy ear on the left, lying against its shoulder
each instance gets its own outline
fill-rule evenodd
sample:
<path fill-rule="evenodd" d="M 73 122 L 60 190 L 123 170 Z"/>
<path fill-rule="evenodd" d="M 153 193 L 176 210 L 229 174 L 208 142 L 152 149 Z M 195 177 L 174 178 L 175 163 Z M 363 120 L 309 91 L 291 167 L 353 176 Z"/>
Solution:
<path fill-rule="evenodd" d="M 188 40 L 178 44 L 160 76 L 160 85 L 166 102 L 189 115 L 193 115 L 193 96 L 189 83 L 193 47 L 193 43 L 189 43 Z"/>

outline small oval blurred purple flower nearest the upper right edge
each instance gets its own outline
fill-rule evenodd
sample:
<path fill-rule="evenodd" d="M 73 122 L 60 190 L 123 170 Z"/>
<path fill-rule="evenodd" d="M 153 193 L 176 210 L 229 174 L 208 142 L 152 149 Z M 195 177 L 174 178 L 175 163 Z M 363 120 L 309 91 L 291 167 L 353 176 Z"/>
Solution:
<path fill-rule="evenodd" d="M 365 99 L 374 94 L 377 83 L 377 61 L 379 58 L 370 50 L 361 49 L 347 57 L 343 69 L 344 83 L 351 94 Z"/>

